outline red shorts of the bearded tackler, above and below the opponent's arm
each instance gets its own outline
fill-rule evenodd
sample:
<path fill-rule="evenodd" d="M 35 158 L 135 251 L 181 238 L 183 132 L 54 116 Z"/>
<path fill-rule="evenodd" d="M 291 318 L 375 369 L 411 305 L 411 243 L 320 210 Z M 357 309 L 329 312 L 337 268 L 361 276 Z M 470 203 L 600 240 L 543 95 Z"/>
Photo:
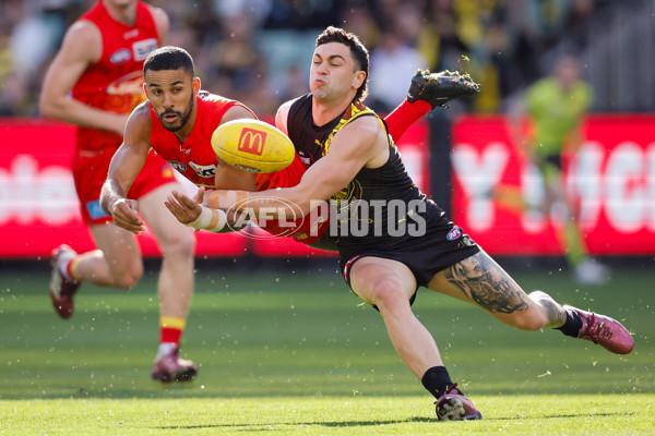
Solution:
<path fill-rule="evenodd" d="M 305 174 L 306 170 L 307 168 L 305 167 L 305 164 L 302 164 L 298 155 L 296 155 L 296 159 L 294 159 L 291 165 L 286 167 L 284 170 L 265 174 L 257 174 L 255 189 L 257 191 L 266 191 L 275 187 L 295 186 L 300 183 L 300 179 L 302 179 L 302 174 Z M 289 229 L 288 222 L 283 222 L 284 226 L 282 226 L 278 221 L 267 220 L 265 225 L 262 226 L 262 229 L 273 235 L 290 235 L 297 242 L 302 242 L 303 244 L 310 245 L 317 242 L 330 227 L 327 219 L 324 221 L 312 221 L 310 216 L 300 217 L 295 220 L 295 223 L 296 227 Z"/>

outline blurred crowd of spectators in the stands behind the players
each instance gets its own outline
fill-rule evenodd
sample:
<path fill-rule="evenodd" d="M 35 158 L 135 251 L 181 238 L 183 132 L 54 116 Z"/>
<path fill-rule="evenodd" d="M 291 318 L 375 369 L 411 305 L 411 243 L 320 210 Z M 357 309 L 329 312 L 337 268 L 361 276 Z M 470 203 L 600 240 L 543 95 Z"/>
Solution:
<path fill-rule="evenodd" d="M 0 1 L 0 116 L 37 116 L 44 72 L 68 26 L 95 0 Z M 354 32 L 371 52 L 368 106 L 385 112 L 417 69 L 458 70 L 483 84 L 464 110 L 498 113 L 548 73 L 538 60 L 611 1 L 600 0 L 151 0 L 171 20 L 203 88 L 257 113 L 308 92 L 317 35 Z M 573 39 L 584 49 L 584 38 Z"/>

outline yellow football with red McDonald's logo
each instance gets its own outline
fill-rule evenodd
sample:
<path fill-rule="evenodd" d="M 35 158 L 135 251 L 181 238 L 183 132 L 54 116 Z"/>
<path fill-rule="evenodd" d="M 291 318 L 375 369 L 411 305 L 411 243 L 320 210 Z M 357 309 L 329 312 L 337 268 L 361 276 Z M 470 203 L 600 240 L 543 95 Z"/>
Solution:
<path fill-rule="evenodd" d="M 212 148 L 228 165 L 250 172 L 279 171 L 291 161 L 296 148 L 279 129 L 260 120 L 234 120 L 212 134 Z"/>

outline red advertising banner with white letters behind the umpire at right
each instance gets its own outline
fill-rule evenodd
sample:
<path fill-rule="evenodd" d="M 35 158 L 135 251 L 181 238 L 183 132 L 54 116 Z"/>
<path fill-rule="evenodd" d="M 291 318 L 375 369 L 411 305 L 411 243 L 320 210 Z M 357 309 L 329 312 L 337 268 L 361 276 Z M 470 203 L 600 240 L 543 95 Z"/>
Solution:
<path fill-rule="evenodd" d="M 588 251 L 655 253 L 655 116 L 591 116 L 585 141 L 564 159 L 564 185 L 580 207 Z M 492 192 L 536 203 L 538 171 L 521 158 L 502 117 L 463 117 L 453 124 L 453 220 L 487 252 L 561 254 L 553 220 L 536 208 L 501 206 Z"/>

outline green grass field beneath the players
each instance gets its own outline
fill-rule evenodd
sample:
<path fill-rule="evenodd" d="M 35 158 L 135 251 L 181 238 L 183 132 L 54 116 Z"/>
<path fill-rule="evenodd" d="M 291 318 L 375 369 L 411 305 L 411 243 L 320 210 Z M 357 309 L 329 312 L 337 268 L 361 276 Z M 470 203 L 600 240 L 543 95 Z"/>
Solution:
<path fill-rule="evenodd" d="M 9 269 L 0 269 L 0 434 L 655 434 L 650 270 L 576 289 L 565 272 L 509 269 L 526 290 L 624 320 L 636 342 L 627 356 L 559 331 L 514 330 L 421 290 L 415 312 L 485 415 L 441 423 L 379 314 L 336 272 L 203 263 L 182 349 L 199 376 L 163 386 L 150 380 L 156 269 L 130 292 L 84 286 L 70 320 L 50 306 L 45 266 Z"/>

